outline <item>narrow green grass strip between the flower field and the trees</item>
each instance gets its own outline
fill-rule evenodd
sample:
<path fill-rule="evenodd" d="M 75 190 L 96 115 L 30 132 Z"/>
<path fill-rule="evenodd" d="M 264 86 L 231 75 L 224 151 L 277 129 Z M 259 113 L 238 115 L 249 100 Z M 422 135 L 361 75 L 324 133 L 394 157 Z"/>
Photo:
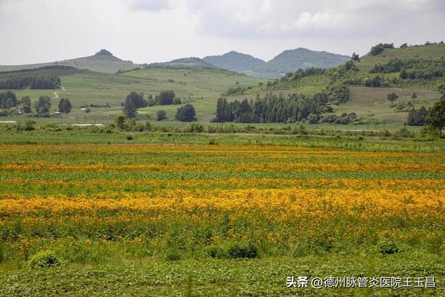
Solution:
<path fill-rule="evenodd" d="M 181 122 L 170 122 L 181 124 Z M 189 124 L 187 124 L 189 125 Z M 215 126 L 217 124 L 214 124 Z M 219 124 L 221 125 L 221 124 Z M 240 124 L 241 125 L 241 124 Z M 259 127 L 268 127 L 267 124 Z M 178 126 L 175 126 L 178 127 Z M 188 126 L 186 126 L 188 127 Z M 282 127 L 280 125 L 279 127 Z M 289 127 L 289 126 L 288 126 Z M 334 126 L 331 126 L 334 128 Z M 172 132 L 120 132 L 107 133 L 106 128 L 86 127 L 65 131 L 63 127 L 42 128 L 35 131 L 16 131 L 13 126 L 0 125 L 1 141 L 4 143 L 177 143 L 207 145 L 290 145 L 302 147 L 326 147 L 353 151 L 368 152 L 444 152 L 445 141 L 442 139 L 423 140 L 403 138 L 378 138 L 348 136 L 348 131 L 339 134 L 338 131 L 328 130 L 326 136 L 275 135 L 275 134 L 197 134 Z M 174 127 L 173 127 L 174 128 Z M 352 128 L 352 127 L 351 127 Z M 372 128 L 372 126 L 371 126 Z M 312 129 L 316 129 L 313 127 Z M 410 129 L 410 127 L 408 127 Z M 366 129 L 364 127 L 366 133 Z M 413 130 L 414 131 L 414 130 Z M 133 139 L 128 141 L 126 136 L 131 133 Z"/>

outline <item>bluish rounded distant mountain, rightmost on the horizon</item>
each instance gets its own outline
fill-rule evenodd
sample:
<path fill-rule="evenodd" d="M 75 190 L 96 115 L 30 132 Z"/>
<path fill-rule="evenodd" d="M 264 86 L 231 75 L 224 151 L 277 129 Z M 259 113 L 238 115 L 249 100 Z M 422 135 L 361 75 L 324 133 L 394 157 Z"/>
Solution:
<path fill-rule="evenodd" d="M 255 77 L 276 78 L 282 77 L 288 72 L 296 72 L 298 69 L 309 67 L 328 68 L 344 64 L 350 57 L 327 51 L 312 51 L 298 48 L 283 51 L 281 54 L 268 61 L 257 65 L 250 75 Z"/>

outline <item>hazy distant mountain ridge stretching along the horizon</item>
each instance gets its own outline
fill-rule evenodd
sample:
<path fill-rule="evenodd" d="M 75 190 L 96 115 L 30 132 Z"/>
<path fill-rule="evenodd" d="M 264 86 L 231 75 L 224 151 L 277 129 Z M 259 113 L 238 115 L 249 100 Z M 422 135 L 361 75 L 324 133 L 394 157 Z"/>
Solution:
<path fill-rule="evenodd" d="M 73 58 L 70 60 L 56 61 L 51 63 L 40 63 L 32 65 L 2 66 L 0 72 L 15 71 L 23 69 L 36 69 L 45 66 L 67 66 L 80 70 L 91 70 L 114 74 L 126 72 L 138 67 L 170 67 L 170 68 L 198 68 L 212 70 L 229 70 L 241 72 L 253 77 L 275 79 L 283 77 L 288 72 L 296 72 L 308 67 L 328 68 L 342 65 L 349 61 L 349 56 L 332 54 L 327 51 L 312 51 L 310 49 L 298 48 L 283 51 L 272 60 L 265 62 L 260 58 L 237 51 L 229 51 L 219 56 L 205 56 L 204 58 L 179 58 L 170 62 L 150 63 L 138 65 L 131 61 L 123 61 L 113 56 L 110 51 L 102 49 L 93 56 Z"/>

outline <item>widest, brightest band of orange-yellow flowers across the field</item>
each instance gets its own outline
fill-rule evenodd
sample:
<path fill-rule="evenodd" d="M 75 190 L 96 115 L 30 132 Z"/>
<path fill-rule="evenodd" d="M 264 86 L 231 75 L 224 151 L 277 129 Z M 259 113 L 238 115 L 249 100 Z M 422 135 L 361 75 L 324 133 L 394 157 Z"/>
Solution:
<path fill-rule="evenodd" d="M 201 214 L 203 211 L 255 213 L 259 218 L 294 220 L 302 217 L 330 218 L 333 215 L 360 219 L 387 217 L 445 219 L 445 190 L 354 191 L 343 189 L 302 190 L 249 189 L 186 191 L 164 190 L 154 193 L 98 193 L 95 198 L 54 197 L 0 200 L 1 216 L 34 216 L 40 211 L 51 215 L 97 214 L 123 211 L 139 214 Z"/>

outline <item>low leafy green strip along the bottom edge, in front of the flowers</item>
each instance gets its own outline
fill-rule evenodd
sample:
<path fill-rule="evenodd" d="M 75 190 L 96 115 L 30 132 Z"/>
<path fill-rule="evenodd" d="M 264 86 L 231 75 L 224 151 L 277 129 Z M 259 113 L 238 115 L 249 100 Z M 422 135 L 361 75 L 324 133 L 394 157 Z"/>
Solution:
<path fill-rule="evenodd" d="M 416 259 L 421 259 L 419 262 Z M 34 270 L 0 265 L 4 296 L 442 296 L 444 259 L 423 252 L 388 256 L 324 255 L 246 260 L 147 257 Z M 287 288 L 286 277 L 435 276 L 437 289 Z"/>

